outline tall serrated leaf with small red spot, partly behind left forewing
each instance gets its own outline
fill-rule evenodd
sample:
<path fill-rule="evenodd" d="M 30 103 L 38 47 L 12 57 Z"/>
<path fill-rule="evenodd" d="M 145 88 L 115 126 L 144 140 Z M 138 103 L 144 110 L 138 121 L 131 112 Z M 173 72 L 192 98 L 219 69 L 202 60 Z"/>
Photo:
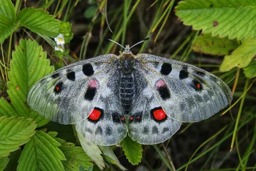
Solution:
<path fill-rule="evenodd" d="M 15 46 L 8 73 L 8 94 L 12 105 L 22 117 L 33 117 L 38 127 L 48 123 L 49 120 L 32 111 L 26 105 L 27 94 L 31 85 L 37 80 L 54 71 L 50 61 L 46 59 L 46 53 L 36 41 L 20 40 Z"/>

